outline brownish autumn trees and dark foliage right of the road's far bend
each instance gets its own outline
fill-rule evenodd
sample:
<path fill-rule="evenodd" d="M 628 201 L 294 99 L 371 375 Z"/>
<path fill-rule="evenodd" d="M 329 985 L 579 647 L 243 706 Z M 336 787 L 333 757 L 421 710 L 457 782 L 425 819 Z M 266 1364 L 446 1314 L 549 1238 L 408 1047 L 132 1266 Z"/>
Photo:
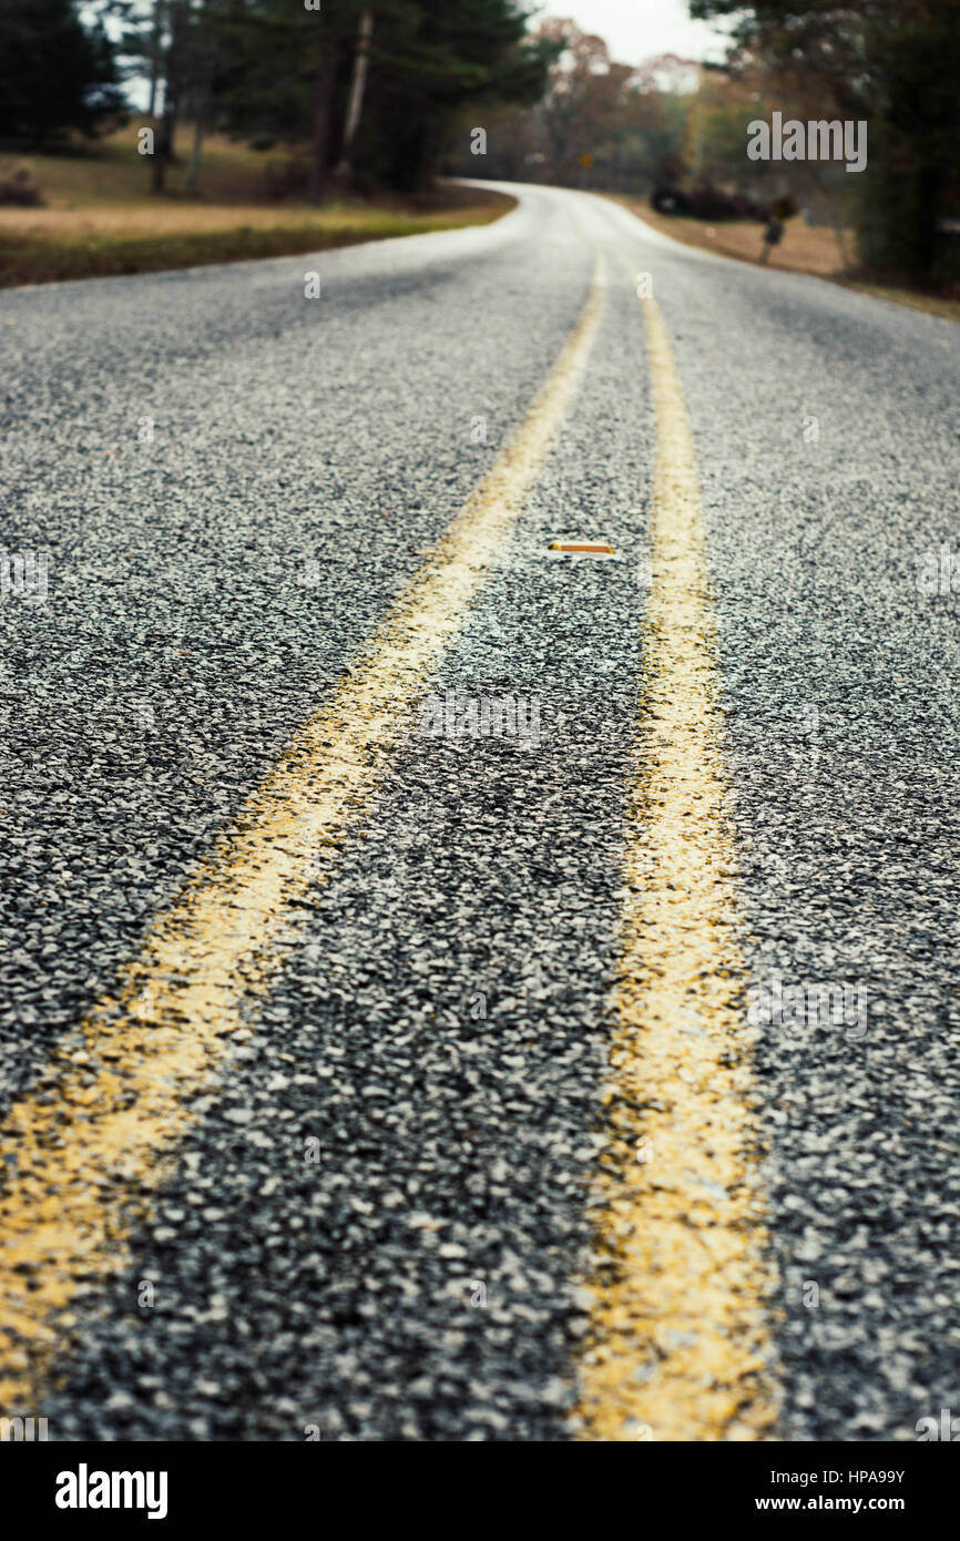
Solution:
<path fill-rule="evenodd" d="M 690 11 L 737 23 L 723 65 L 624 65 L 573 22 L 544 22 L 535 37 L 556 49 L 545 89 L 495 114 L 490 173 L 681 190 L 704 217 L 789 196 L 852 230 L 864 271 L 960 293 L 960 0 L 690 0 Z M 774 112 L 864 122 L 863 173 L 752 160 L 749 126 Z M 468 171 L 470 156 L 461 148 L 448 166 Z"/>

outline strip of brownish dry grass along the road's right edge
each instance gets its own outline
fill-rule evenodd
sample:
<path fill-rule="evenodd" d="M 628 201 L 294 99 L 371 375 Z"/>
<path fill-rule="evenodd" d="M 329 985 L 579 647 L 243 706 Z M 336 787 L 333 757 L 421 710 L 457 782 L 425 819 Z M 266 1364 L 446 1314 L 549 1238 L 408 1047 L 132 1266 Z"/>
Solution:
<path fill-rule="evenodd" d="M 653 230 L 660 230 L 664 236 L 672 236 L 673 240 L 681 240 L 687 247 L 703 247 L 706 251 L 718 251 L 740 262 L 760 260 L 760 253 L 763 251 L 763 225 L 755 220 L 730 220 L 729 223 L 710 225 L 704 219 L 681 219 L 672 214 L 658 214 L 641 199 L 610 196 L 616 203 L 623 203 L 624 208 L 629 208 L 633 214 L 646 220 L 647 225 L 652 225 Z M 781 243 L 770 251 L 769 267 L 786 268 L 790 273 L 812 273 L 815 277 L 831 279 L 834 284 L 843 284 L 864 294 L 875 294 L 880 299 L 895 300 L 898 305 L 925 310 L 946 321 L 960 321 L 960 300 L 940 299 L 935 294 L 888 288 L 848 277 L 846 270 L 852 265 L 852 236 L 844 236 L 841 242 L 837 233 L 827 225 L 804 225 L 801 219 L 792 219 L 786 227 Z"/>

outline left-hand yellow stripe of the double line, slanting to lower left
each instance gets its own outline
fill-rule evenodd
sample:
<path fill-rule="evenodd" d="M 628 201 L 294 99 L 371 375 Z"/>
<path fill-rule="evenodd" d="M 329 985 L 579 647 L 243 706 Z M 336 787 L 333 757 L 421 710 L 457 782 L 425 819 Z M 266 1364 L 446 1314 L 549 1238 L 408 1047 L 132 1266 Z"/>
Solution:
<path fill-rule="evenodd" d="M 227 1053 L 296 934 L 296 905 L 370 809 L 428 673 L 461 627 L 579 384 L 603 305 L 584 311 L 521 428 L 362 658 L 297 730 L 140 957 L 0 1130 L 0 1410 L 31 1396 L 74 1325 L 82 1281 L 126 1265 L 125 1237 L 171 1171 L 186 1099 Z"/>

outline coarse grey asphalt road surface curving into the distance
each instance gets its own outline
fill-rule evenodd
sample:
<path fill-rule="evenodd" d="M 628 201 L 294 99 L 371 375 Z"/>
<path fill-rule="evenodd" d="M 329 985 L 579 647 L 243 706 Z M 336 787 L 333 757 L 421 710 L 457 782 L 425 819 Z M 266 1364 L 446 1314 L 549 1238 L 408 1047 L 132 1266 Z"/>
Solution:
<path fill-rule="evenodd" d="M 946 566 L 923 576 L 960 553 L 957 331 L 512 191 L 476 231 L 0 297 L 3 549 L 48 553 L 45 598 L 15 570 L 0 596 L 0 1268 L 40 1211 L 60 1236 L 11 1265 L 43 1310 L 0 1305 L 0 1387 L 51 1439 L 912 1441 L 960 1412 L 960 601 Z M 629 791 L 663 635 L 658 438 L 670 458 L 638 274 L 693 433 L 737 871 L 712 903 L 746 969 L 721 1053 L 743 1151 L 692 1224 L 709 1251 L 746 1182 L 727 1228 L 760 1271 L 729 1290 L 717 1264 L 718 1330 L 760 1321 L 763 1361 L 698 1364 L 687 1335 L 684 1384 L 729 1393 L 701 1422 L 670 1333 L 633 1319 L 615 1379 L 669 1410 L 639 1429 L 584 1410 L 596 1279 L 626 1267 L 596 1196 L 609 1110 L 643 1137 L 660 1089 L 624 1097 L 610 1062 L 624 849 L 658 817 Z M 288 931 L 223 1053 L 163 1074 L 156 1130 L 94 1176 L 100 1083 L 55 1122 L 83 1102 L 83 1022 L 296 729 L 364 687 L 589 304 L 516 519 L 418 686 L 521 698 L 525 732 L 424 729 L 410 686 L 316 880 L 280 885 Z M 778 1014 L 777 986 L 846 986 L 846 1017 Z M 142 1042 L 112 1054 L 125 1106 Z M 653 1145 L 616 1177 L 641 1233 Z"/>

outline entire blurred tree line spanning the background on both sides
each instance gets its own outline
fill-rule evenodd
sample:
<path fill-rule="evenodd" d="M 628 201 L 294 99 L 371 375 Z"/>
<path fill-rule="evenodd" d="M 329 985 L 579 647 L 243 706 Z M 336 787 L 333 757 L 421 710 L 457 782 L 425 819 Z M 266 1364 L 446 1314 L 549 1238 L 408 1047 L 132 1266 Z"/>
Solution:
<path fill-rule="evenodd" d="M 521 0 L 3 0 L 0 137 L 92 133 L 136 76 L 156 116 L 157 193 L 176 153 L 186 191 L 202 188 L 211 129 L 300 146 L 279 191 L 313 200 L 347 183 L 413 191 L 442 168 L 607 191 L 724 188 L 730 208 L 789 191 L 855 228 L 864 268 L 960 284 L 960 0 L 690 11 L 732 18 L 723 66 L 618 63 L 573 22 L 536 25 Z M 747 125 L 774 111 L 864 120 L 863 176 L 749 160 Z M 470 125 L 484 126 L 479 143 Z"/>

